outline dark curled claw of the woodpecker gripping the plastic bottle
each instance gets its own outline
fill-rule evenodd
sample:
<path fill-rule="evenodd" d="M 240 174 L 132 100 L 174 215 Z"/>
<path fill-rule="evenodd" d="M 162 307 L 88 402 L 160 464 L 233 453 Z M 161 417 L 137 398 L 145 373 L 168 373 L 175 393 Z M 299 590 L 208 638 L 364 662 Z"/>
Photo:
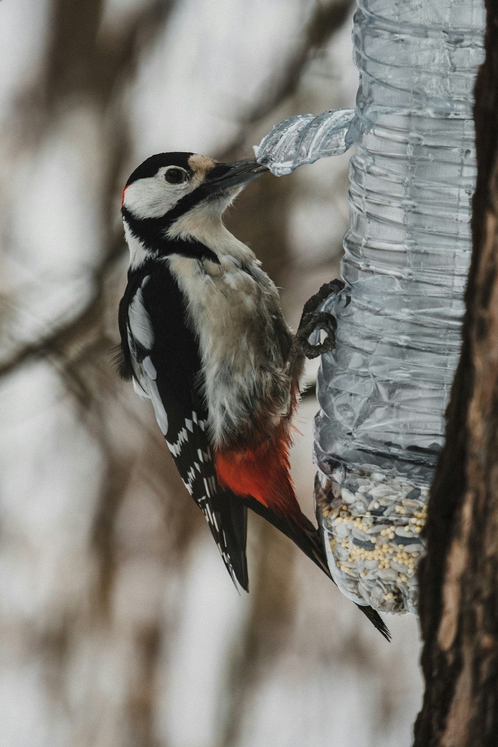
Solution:
<path fill-rule="evenodd" d="M 330 350 L 334 350 L 335 347 L 335 330 L 337 329 L 337 321 L 332 314 L 328 311 L 317 311 L 317 308 L 333 293 L 337 294 L 344 288 L 342 280 L 332 280 L 331 282 L 325 283 L 320 288 L 320 291 L 311 296 L 306 301 L 304 308 L 302 309 L 302 317 L 299 322 L 299 329 L 296 332 L 296 338 L 294 344 L 299 349 L 302 355 L 308 359 L 317 358 L 317 356 L 323 355 L 323 353 L 329 353 Z M 326 332 L 326 339 L 317 344 L 312 345 L 308 338 L 316 329 L 323 329 Z"/>

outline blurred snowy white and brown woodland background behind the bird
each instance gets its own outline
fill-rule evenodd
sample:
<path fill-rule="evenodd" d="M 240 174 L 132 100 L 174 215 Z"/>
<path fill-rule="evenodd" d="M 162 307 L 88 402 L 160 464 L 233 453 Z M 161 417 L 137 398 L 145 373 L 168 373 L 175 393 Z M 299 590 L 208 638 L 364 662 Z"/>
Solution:
<path fill-rule="evenodd" d="M 349 0 L 0 3 L 2 746 L 411 743 L 417 622 L 387 620 L 388 645 L 255 516 L 237 595 L 111 367 L 129 173 L 249 156 L 290 114 L 352 105 L 351 23 Z M 228 216 L 290 323 L 337 276 L 348 158 L 258 180 Z M 292 455 L 311 516 L 316 409 Z"/>

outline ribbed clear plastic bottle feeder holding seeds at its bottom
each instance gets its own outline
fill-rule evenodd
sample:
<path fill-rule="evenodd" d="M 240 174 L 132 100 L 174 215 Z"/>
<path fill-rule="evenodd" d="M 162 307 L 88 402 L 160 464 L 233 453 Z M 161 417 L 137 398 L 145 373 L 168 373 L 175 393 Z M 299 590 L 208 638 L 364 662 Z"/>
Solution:
<path fill-rule="evenodd" d="M 317 384 L 317 515 L 343 592 L 414 612 L 420 530 L 461 343 L 485 10 L 482 0 L 358 5 L 356 108 L 334 130 L 337 152 L 350 142 L 356 152 L 346 288 L 324 304 L 337 317 L 337 347 L 323 356 Z M 294 165 L 329 155 L 320 143 L 303 152 L 282 124 L 287 160 L 275 151 L 277 172 L 289 170 L 293 143 Z M 264 148 L 258 155 L 272 161 Z"/>

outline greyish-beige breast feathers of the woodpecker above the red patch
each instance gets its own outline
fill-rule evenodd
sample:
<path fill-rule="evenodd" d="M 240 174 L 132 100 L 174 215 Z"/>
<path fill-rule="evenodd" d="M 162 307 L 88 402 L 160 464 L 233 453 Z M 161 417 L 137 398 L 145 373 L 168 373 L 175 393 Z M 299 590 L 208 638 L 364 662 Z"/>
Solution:
<path fill-rule="evenodd" d="M 209 432 L 217 446 L 247 429 L 258 410 L 268 427 L 290 404 L 285 370 L 292 335 L 278 291 L 255 261 L 220 256 L 220 265 L 170 263 L 199 339 Z M 249 435 L 249 434 L 248 434 Z"/>

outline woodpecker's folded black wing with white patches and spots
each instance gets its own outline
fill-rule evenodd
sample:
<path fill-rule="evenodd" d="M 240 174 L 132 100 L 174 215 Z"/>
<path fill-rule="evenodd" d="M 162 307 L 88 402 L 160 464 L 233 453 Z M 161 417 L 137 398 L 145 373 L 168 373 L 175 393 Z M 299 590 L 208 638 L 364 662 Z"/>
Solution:
<path fill-rule="evenodd" d="M 247 591 L 247 509 L 217 481 L 199 394 L 199 349 L 186 319 L 184 297 L 166 265 L 150 263 L 129 273 L 119 305 L 119 372 L 152 400 L 181 479 L 202 509 L 228 573 Z"/>

